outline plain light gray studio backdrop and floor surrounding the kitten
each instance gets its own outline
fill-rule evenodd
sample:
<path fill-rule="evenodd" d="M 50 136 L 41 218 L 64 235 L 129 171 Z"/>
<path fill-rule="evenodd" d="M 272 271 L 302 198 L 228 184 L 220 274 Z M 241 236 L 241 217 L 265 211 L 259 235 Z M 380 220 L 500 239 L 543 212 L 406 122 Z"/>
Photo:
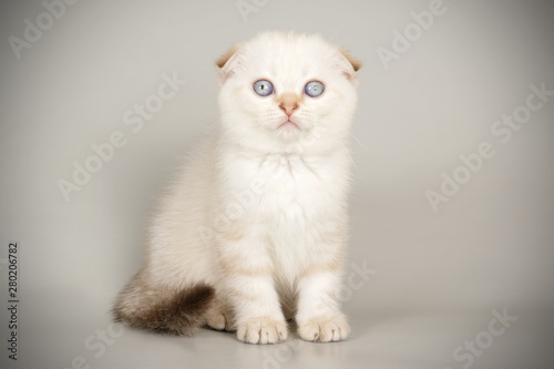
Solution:
<path fill-rule="evenodd" d="M 0 6 L 2 368 L 553 367 L 552 2 L 70 2 Z M 156 198 L 217 122 L 214 60 L 269 29 L 363 63 L 351 337 L 257 347 L 110 325 Z"/>

